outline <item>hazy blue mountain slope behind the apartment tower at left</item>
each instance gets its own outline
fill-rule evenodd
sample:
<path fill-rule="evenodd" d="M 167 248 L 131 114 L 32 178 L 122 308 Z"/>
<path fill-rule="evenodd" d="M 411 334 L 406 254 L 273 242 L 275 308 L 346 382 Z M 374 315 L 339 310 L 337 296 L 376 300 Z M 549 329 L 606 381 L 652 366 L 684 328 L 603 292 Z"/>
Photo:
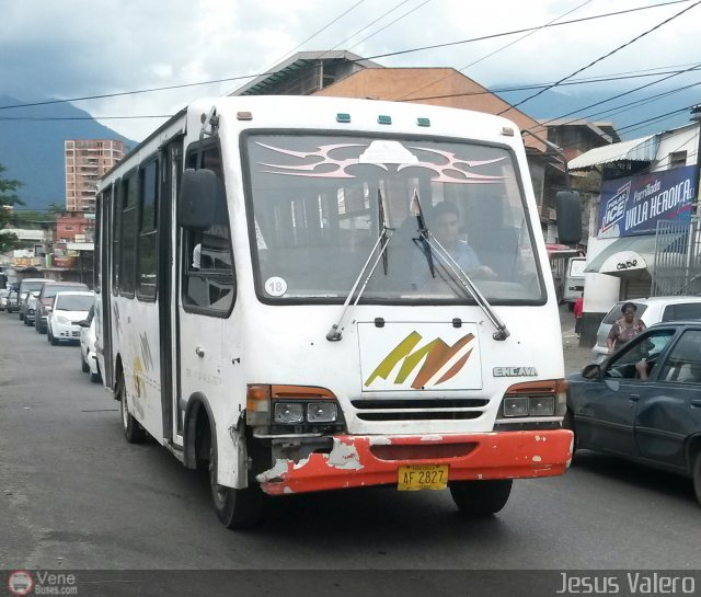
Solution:
<path fill-rule="evenodd" d="M 129 148 L 137 146 L 68 102 L 2 110 L 24 103 L 28 102 L 0 95 L 0 164 L 7 169 L 2 176 L 22 182 L 18 195 L 26 204 L 24 209 L 66 205 L 67 139 L 119 139 Z"/>

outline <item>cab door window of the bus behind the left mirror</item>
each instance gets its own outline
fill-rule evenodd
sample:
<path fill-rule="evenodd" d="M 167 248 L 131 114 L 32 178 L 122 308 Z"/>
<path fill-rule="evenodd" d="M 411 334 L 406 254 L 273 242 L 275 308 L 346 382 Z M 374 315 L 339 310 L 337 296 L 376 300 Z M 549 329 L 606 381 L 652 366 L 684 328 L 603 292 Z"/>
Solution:
<path fill-rule="evenodd" d="M 191 154 L 188 167 L 195 165 L 194 159 L 196 153 Z M 205 150 L 203 162 L 203 168 L 217 174 L 219 193 L 212 225 L 205 231 L 183 230 L 183 303 L 225 315 L 233 305 L 235 276 L 219 149 Z"/>

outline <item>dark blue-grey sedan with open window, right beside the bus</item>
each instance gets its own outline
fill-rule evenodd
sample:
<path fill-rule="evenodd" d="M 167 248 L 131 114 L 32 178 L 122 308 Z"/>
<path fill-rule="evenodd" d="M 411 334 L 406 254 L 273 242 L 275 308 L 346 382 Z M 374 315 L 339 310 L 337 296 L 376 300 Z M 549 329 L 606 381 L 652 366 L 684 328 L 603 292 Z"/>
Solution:
<path fill-rule="evenodd" d="M 691 477 L 701 505 L 701 321 L 653 325 L 568 382 L 575 449 Z"/>

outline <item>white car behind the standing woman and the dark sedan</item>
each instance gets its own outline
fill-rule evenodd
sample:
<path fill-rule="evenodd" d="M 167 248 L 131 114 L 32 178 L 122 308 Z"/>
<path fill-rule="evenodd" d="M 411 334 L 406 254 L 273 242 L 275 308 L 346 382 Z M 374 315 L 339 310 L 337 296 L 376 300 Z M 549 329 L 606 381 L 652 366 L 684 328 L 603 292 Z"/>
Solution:
<path fill-rule="evenodd" d="M 591 348 L 591 363 L 600 365 L 609 356 L 607 338 L 611 325 L 623 317 L 621 307 L 632 302 L 636 307 L 635 318 L 650 328 L 663 321 L 701 320 L 701 297 L 651 297 L 620 300 L 601 321 L 596 334 L 596 344 Z"/>

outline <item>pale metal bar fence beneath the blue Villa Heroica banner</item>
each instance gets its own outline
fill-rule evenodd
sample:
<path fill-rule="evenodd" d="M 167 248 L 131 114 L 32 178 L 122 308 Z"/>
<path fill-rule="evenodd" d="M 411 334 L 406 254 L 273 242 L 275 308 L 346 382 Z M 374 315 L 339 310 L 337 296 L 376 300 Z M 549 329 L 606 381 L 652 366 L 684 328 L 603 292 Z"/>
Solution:
<path fill-rule="evenodd" d="M 701 227 L 690 222 L 657 222 L 651 296 L 701 295 Z"/>

